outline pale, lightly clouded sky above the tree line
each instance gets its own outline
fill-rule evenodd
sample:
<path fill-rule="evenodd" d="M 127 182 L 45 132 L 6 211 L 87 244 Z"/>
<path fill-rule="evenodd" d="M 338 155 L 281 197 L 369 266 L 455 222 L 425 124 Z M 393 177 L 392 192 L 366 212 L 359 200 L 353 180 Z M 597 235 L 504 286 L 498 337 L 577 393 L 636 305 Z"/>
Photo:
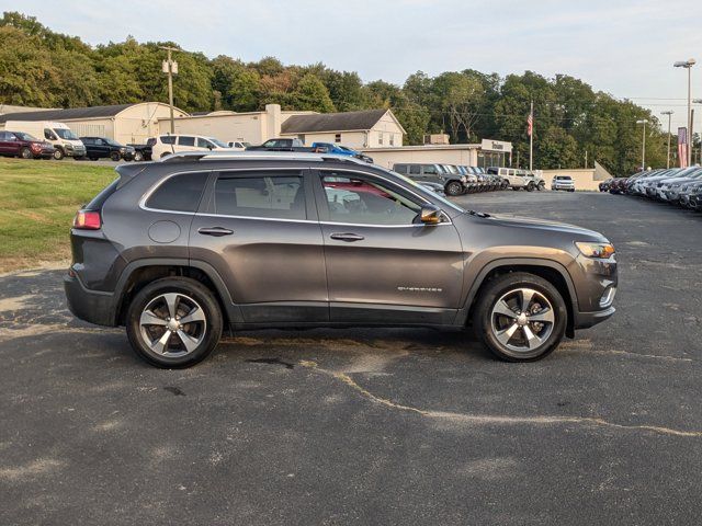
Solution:
<path fill-rule="evenodd" d="M 3 5 L 4 4 L 4 5 Z M 702 0 L 46 0 L 2 10 L 36 16 L 89 44 L 173 41 L 208 57 L 321 61 L 364 81 L 476 69 L 570 75 L 686 123 L 687 71 L 702 99 Z M 695 130 L 702 129 L 698 105 Z M 667 119 L 667 117 L 666 117 Z M 664 117 L 661 117 L 664 121 Z M 667 121 L 665 122 L 667 126 Z"/>

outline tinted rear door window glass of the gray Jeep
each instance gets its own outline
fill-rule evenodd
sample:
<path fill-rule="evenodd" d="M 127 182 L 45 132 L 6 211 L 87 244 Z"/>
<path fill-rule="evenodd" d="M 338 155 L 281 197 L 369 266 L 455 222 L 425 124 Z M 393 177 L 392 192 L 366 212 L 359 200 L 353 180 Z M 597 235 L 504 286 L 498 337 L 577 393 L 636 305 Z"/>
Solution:
<path fill-rule="evenodd" d="M 215 184 L 215 214 L 306 219 L 303 178 L 274 174 L 229 178 L 223 174 Z"/>

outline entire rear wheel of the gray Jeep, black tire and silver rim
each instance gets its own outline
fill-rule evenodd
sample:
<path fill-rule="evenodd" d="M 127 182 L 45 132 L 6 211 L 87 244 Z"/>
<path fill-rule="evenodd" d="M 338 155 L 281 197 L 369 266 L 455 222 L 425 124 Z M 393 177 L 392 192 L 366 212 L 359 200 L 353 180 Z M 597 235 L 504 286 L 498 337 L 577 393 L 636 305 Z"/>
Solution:
<path fill-rule="evenodd" d="M 212 353 L 223 318 L 207 287 L 188 277 L 150 283 L 127 310 L 127 336 L 136 353 L 158 367 L 190 367 Z"/>

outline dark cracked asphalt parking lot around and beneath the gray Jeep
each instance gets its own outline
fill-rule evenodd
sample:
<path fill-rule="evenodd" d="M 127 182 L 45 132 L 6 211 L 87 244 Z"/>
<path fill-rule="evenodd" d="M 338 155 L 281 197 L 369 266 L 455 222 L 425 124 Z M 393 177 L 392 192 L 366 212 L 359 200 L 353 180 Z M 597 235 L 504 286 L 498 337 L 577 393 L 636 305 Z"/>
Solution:
<path fill-rule="evenodd" d="M 702 214 L 458 201 L 605 233 L 615 317 L 534 364 L 469 333 L 314 330 L 159 370 L 70 317 L 61 271 L 0 277 L 0 524 L 699 522 Z"/>

